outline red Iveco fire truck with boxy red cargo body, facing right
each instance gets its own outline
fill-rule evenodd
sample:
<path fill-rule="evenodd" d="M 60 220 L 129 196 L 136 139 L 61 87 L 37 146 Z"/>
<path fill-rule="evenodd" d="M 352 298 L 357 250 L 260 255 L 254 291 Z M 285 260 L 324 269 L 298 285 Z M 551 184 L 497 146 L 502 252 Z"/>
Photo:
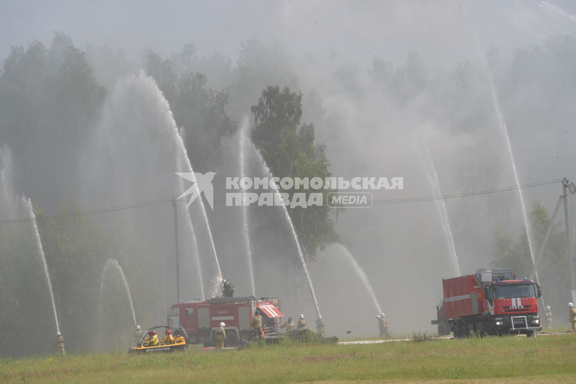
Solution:
<path fill-rule="evenodd" d="M 540 285 L 517 280 L 510 268 L 480 268 L 474 275 L 442 279 L 444 298 L 437 309 L 438 334 L 468 337 L 484 334 L 522 333 L 536 336 L 542 329 L 537 298 Z"/>

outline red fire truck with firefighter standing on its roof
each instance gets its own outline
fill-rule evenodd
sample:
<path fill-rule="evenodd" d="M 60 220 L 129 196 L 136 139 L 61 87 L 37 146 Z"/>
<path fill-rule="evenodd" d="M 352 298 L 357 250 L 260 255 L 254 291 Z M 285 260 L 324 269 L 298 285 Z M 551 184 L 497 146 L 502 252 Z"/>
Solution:
<path fill-rule="evenodd" d="M 244 341 L 252 341 L 252 317 L 260 309 L 266 339 L 278 337 L 281 326 L 280 299 L 255 296 L 237 298 L 212 298 L 206 301 L 187 301 L 168 309 L 168 326 L 184 326 L 188 344 L 216 345 L 215 330 L 223 322 L 226 330 L 225 347 L 234 347 Z"/>

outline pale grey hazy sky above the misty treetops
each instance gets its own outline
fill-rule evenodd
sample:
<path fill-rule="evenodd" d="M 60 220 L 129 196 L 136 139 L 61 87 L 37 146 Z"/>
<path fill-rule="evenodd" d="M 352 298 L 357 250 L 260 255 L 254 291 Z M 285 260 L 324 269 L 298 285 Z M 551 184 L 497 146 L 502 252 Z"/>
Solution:
<path fill-rule="evenodd" d="M 194 42 L 233 60 L 241 40 L 255 35 L 290 52 L 329 47 L 365 67 L 373 55 L 400 63 L 409 49 L 449 64 L 494 44 L 503 52 L 538 43 L 547 33 L 576 30 L 576 3 L 538 1 L 3 1 L 0 56 L 33 39 L 49 43 L 58 29 L 75 45 L 109 45 L 168 55 Z"/>

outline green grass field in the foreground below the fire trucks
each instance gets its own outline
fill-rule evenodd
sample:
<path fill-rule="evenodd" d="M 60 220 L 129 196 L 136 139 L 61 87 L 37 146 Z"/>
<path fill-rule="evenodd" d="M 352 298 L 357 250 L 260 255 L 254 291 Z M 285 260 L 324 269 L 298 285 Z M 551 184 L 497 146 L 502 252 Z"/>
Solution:
<path fill-rule="evenodd" d="M 566 382 L 576 335 L 268 345 L 241 351 L 154 355 L 112 352 L 0 362 L 0 382 Z"/>

